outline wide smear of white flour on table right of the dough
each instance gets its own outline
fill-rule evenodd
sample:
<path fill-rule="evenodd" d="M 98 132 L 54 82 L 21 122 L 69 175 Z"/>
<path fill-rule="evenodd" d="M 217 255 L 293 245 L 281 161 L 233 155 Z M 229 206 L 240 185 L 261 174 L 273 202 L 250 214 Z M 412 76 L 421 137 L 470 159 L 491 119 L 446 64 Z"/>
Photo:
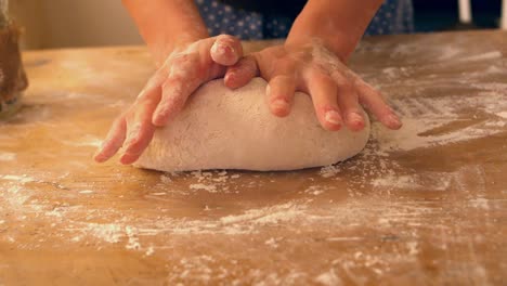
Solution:
<path fill-rule="evenodd" d="M 491 88 L 491 86 L 485 88 Z M 433 100 L 439 110 L 426 110 L 424 117 L 411 115 L 410 110 L 405 110 L 406 115 L 402 116 L 403 127 L 400 130 L 390 131 L 375 122 L 372 136 L 378 141 L 380 151 L 395 152 L 446 145 L 506 132 L 507 102 L 504 99 L 507 95 L 507 88 L 502 88 L 502 90 L 463 99 L 448 96 Z M 398 100 L 396 105 L 400 108 L 410 106 L 404 101 L 421 106 L 427 104 L 426 100 L 419 99 L 417 101 Z M 486 113 L 487 117 L 463 118 L 460 114 L 470 106 Z M 503 120 L 498 121 L 498 117 Z M 465 125 L 465 127 L 453 127 L 455 123 Z"/>

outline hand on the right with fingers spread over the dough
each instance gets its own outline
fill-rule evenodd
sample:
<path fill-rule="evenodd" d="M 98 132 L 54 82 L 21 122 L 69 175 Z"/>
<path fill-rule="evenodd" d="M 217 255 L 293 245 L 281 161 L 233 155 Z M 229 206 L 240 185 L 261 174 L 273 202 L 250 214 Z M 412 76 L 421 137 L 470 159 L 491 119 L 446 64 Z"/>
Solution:
<path fill-rule="evenodd" d="M 295 91 L 302 91 L 312 98 L 316 116 L 326 130 L 339 130 L 343 123 L 350 130 L 362 130 L 365 118 L 360 104 L 386 127 L 402 126 L 380 92 L 318 41 L 304 46 L 286 43 L 252 53 L 229 67 L 225 78 L 235 74 L 243 75 L 242 82 L 258 75 L 269 81 L 268 104 L 280 117 L 290 113 Z"/>

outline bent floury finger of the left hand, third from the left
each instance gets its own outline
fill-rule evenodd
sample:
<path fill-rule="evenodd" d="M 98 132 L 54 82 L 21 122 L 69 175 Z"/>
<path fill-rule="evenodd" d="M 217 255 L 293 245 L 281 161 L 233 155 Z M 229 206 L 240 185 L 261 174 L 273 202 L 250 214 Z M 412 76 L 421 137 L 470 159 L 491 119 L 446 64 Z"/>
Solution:
<path fill-rule="evenodd" d="M 173 119 L 202 82 L 198 54 L 174 58 L 169 77 L 161 86 L 161 100 L 153 114 L 153 125 L 161 127 Z"/>

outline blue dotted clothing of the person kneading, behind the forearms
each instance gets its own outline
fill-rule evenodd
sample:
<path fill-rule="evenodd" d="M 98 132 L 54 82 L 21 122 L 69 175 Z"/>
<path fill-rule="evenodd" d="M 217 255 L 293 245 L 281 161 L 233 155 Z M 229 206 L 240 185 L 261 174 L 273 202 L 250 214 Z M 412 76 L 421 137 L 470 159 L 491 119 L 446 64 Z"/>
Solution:
<path fill-rule="evenodd" d="M 275 0 L 274 0 L 275 1 Z M 244 40 L 287 37 L 292 21 L 237 10 L 217 0 L 195 0 L 210 36 L 229 34 Z M 412 0 L 386 0 L 373 18 L 366 35 L 414 31 Z"/>

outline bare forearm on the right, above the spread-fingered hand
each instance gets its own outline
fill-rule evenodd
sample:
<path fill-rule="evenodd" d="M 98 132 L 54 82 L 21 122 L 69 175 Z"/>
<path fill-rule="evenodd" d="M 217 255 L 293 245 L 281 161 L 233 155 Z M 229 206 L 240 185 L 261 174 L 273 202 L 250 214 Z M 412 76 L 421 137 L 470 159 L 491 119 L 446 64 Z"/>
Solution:
<path fill-rule="evenodd" d="M 382 0 L 310 0 L 296 18 L 287 44 L 322 41 L 347 61 Z"/>

